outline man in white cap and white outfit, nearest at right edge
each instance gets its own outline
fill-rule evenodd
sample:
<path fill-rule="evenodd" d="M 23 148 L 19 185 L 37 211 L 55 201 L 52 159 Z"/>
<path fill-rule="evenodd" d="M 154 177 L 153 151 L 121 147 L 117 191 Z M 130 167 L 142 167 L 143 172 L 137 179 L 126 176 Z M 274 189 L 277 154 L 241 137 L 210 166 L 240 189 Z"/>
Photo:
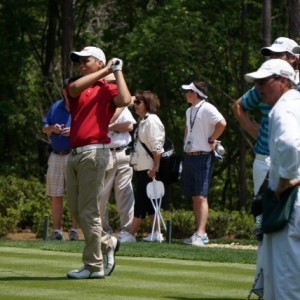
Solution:
<path fill-rule="evenodd" d="M 268 187 L 278 201 L 300 183 L 300 93 L 296 72 L 282 59 L 271 59 L 245 79 L 254 83 L 262 101 L 270 105 Z M 263 216 L 264 218 L 264 216 Z M 264 234 L 263 292 L 266 300 L 297 300 L 300 295 L 300 192 L 288 224 Z"/>

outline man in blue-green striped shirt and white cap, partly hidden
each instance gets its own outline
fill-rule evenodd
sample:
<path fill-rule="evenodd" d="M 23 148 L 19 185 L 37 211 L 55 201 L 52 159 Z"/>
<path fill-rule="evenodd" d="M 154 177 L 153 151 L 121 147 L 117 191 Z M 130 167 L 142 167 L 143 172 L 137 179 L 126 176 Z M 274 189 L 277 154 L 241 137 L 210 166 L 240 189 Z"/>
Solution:
<path fill-rule="evenodd" d="M 261 49 L 263 56 L 273 58 L 280 58 L 287 61 L 295 70 L 298 68 L 299 55 L 294 53 L 294 47 L 298 46 L 297 43 L 287 37 L 279 37 L 270 47 Z M 298 78 L 298 79 L 297 79 Z M 296 70 L 296 80 L 299 82 L 299 72 Z M 260 122 L 252 119 L 251 111 L 258 109 L 261 113 Z M 256 229 L 254 234 L 258 239 L 258 253 L 255 274 L 255 288 L 254 293 L 258 296 L 261 295 L 262 286 L 261 280 L 261 243 L 262 243 L 262 194 L 267 186 L 268 172 L 270 169 L 270 156 L 269 156 L 269 118 L 268 113 L 271 107 L 262 101 L 261 95 L 255 86 L 248 90 L 242 97 L 240 97 L 233 106 L 233 111 L 241 125 L 241 127 L 256 140 L 253 147 L 255 159 L 253 162 L 253 205 L 252 213 L 256 222 Z"/>

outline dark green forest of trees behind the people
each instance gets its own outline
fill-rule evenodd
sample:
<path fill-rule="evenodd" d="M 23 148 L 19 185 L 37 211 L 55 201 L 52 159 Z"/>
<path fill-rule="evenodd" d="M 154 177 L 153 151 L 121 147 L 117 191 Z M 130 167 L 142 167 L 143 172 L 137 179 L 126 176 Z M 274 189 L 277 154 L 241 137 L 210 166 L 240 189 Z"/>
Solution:
<path fill-rule="evenodd" d="M 208 84 L 209 101 L 228 124 L 210 207 L 249 211 L 255 141 L 232 105 L 251 87 L 243 75 L 263 62 L 260 49 L 279 36 L 299 43 L 299 22 L 300 0 L 0 0 L 0 181 L 45 184 L 42 118 L 61 98 L 62 80 L 78 74 L 70 51 L 93 45 L 123 59 L 132 94 L 158 94 L 159 116 L 179 153 L 188 107 L 180 87 Z M 190 207 L 180 183 L 167 188 L 167 198 L 170 207 Z"/>

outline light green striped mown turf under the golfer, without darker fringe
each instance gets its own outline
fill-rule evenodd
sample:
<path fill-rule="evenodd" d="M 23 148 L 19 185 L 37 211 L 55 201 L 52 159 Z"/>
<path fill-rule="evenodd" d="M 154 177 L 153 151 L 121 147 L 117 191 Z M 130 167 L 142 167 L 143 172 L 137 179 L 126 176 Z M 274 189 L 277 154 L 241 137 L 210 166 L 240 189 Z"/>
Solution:
<path fill-rule="evenodd" d="M 70 280 L 80 253 L 0 247 L 0 299 L 245 299 L 254 264 L 117 256 L 104 280 Z"/>

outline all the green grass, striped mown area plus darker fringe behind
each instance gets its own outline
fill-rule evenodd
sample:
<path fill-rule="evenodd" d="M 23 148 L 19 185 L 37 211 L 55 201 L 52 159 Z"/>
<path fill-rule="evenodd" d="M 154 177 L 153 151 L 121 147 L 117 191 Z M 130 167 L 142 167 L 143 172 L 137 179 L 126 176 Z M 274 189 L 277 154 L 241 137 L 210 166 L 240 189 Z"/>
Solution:
<path fill-rule="evenodd" d="M 245 299 L 253 250 L 135 243 L 121 245 L 112 276 L 70 280 L 83 242 L 0 240 L 0 299 Z"/>

